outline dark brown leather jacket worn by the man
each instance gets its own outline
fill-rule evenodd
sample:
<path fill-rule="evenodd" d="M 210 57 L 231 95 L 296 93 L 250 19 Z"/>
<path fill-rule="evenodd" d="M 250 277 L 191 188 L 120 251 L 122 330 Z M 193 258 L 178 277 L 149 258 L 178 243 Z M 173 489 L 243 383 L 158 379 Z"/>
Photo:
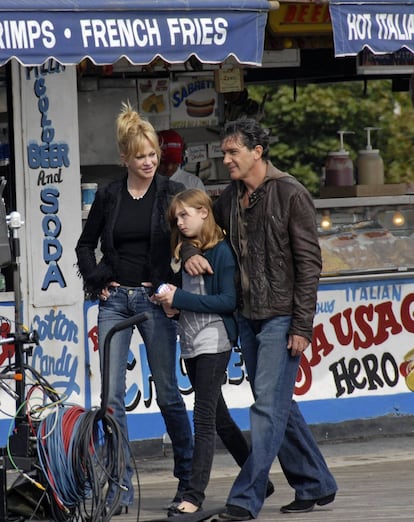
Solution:
<path fill-rule="evenodd" d="M 243 183 L 232 181 L 214 205 L 216 220 L 226 230 L 239 263 L 238 199 L 244 191 Z M 250 318 L 292 315 L 289 333 L 311 340 L 322 263 L 309 192 L 268 162 L 265 181 L 245 212 Z M 239 295 L 243 300 L 240 281 Z"/>

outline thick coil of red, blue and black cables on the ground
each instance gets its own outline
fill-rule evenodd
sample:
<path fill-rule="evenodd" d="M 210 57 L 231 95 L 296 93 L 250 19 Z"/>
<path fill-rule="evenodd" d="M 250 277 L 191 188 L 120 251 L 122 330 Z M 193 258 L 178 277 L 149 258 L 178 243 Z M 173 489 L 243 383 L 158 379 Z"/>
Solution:
<path fill-rule="evenodd" d="M 110 520 L 125 489 L 125 445 L 109 412 L 57 408 L 39 424 L 37 452 L 58 520 Z"/>

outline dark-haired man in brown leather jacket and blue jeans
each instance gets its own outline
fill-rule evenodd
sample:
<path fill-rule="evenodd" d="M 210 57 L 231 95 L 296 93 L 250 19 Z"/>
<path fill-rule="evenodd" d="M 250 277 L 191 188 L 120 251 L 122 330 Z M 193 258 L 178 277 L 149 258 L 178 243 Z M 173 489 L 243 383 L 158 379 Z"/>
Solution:
<path fill-rule="evenodd" d="M 215 203 L 239 268 L 241 349 L 254 402 L 251 453 L 219 521 L 256 518 L 268 474 L 278 456 L 295 499 L 283 513 L 333 502 L 337 485 L 292 399 L 302 352 L 312 339 L 321 255 L 309 192 L 269 161 L 268 132 L 252 119 L 223 130 L 224 164 L 232 182 Z M 185 247 L 190 275 L 211 272 Z M 191 256 L 191 257 L 190 257 Z"/>

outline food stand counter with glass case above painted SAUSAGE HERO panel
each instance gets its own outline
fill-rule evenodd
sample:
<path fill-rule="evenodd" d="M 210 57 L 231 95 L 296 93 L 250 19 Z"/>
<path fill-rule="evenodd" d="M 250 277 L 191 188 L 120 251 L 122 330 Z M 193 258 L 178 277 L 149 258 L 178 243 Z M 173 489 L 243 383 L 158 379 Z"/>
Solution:
<path fill-rule="evenodd" d="M 315 206 L 323 268 L 301 406 L 311 422 L 412 414 L 414 195 Z"/>

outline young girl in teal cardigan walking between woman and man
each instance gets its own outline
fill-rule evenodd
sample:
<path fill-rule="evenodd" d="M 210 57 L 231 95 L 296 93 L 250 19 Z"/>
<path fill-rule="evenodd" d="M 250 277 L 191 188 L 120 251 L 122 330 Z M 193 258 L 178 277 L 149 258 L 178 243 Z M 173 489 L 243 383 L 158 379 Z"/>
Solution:
<path fill-rule="evenodd" d="M 171 309 L 180 311 L 181 355 L 195 395 L 191 478 L 182 502 L 169 510 L 173 516 L 201 508 L 210 479 L 216 428 L 240 465 L 247 458 L 248 447 L 221 393 L 231 349 L 237 340 L 233 253 L 215 222 L 206 192 L 188 189 L 175 195 L 169 207 L 169 221 L 174 260 L 180 261 L 182 241 L 187 238 L 203 251 L 214 272 L 191 277 L 183 270 L 182 288 L 168 284 L 169 291 L 155 297 L 167 313 Z"/>

